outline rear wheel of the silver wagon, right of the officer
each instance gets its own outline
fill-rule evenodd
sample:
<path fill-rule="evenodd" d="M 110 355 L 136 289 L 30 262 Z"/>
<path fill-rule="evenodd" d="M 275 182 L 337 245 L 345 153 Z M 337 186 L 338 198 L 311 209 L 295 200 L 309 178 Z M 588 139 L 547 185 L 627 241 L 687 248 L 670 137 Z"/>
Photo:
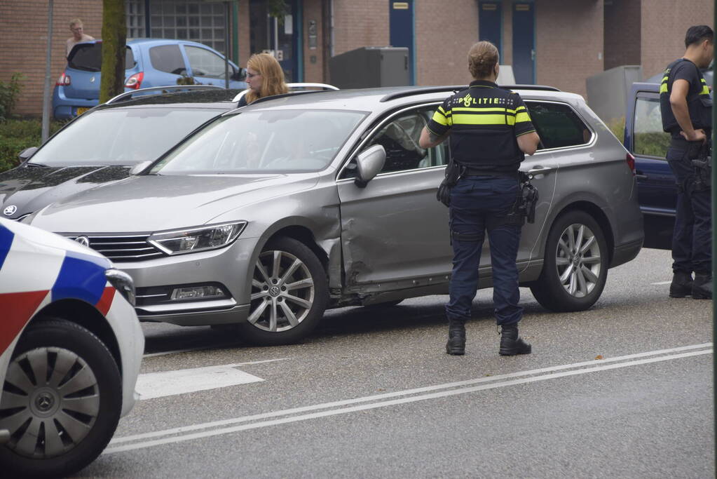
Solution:
<path fill-rule="evenodd" d="M 531 292 L 550 310 L 586 310 L 602 294 L 607 266 L 607 242 L 599 224 L 587 212 L 567 212 L 550 229 L 543 271 Z"/>

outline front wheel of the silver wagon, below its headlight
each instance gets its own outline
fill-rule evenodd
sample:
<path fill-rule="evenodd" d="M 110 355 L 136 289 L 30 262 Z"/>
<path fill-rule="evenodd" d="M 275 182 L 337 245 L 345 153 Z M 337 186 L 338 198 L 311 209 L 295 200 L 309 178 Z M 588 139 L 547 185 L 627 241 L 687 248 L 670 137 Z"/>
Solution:
<path fill-rule="evenodd" d="M 272 240 L 254 268 L 242 336 L 265 346 L 295 343 L 315 328 L 327 303 L 326 272 L 316 255 L 297 240 Z"/>

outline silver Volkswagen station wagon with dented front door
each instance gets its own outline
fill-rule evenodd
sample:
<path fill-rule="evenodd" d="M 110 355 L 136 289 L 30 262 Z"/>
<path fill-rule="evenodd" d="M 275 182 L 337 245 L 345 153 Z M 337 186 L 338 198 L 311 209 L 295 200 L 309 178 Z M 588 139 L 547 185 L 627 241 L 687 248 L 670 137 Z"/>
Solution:
<path fill-rule="evenodd" d="M 446 143 L 418 145 L 459 87 L 285 95 L 225 113 L 141 174 L 27 218 L 128 272 L 142 321 L 238 324 L 260 344 L 298 341 L 326 308 L 447 293 Z M 551 310 L 584 310 L 607 270 L 642 247 L 632 157 L 579 95 L 514 87 L 542 144 L 523 161 L 540 198 L 523 227 L 521 285 Z M 490 288 L 483 246 L 480 288 Z"/>

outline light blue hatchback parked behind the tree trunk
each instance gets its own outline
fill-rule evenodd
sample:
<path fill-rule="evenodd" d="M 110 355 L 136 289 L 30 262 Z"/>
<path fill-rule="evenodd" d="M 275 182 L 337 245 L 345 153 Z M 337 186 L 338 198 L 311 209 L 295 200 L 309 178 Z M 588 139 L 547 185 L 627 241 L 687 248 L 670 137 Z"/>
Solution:
<path fill-rule="evenodd" d="M 100 98 L 102 40 L 75 45 L 67 57 L 52 95 L 54 118 L 74 118 L 97 105 Z M 224 55 L 201 43 L 172 39 L 132 39 L 125 54 L 125 91 L 195 84 L 224 87 Z M 229 88 L 243 90 L 244 70 L 229 62 Z"/>

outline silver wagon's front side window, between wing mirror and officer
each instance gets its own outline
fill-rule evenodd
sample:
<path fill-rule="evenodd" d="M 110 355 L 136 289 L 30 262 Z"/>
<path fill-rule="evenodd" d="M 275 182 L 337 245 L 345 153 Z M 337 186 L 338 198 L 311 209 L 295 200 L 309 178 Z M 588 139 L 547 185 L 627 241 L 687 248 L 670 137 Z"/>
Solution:
<path fill-rule="evenodd" d="M 408 171 L 442 166 L 447 163 L 447 142 L 435 148 L 421 148 L 418 140 L 421 131 L 433 114 L 433 107 L 402 113 L 386 123 L 366 144 L 366 148 L 381 145 L 386 150 L 386 162 L 381 173 Z M 356 161 L 352 160 L 342 178 L 353 178 Z"/>

